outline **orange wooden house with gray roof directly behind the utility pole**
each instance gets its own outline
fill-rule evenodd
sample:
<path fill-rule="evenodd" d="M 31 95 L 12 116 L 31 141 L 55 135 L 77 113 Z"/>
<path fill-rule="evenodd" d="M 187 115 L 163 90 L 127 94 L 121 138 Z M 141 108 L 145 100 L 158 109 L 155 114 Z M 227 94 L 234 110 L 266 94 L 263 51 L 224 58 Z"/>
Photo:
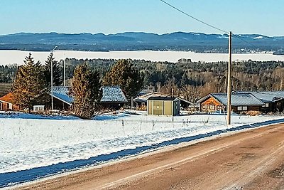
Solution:
<path fill-rule="evenodd" d="M 222 112 L 226 110 L 227 95 L 225 93 L 211 93 L 202 97 L 198 102 L 202 112 Z M 231 110 L 233 112 L 261 111 L 264 102 L 251 93 L 232 93 Z"/>

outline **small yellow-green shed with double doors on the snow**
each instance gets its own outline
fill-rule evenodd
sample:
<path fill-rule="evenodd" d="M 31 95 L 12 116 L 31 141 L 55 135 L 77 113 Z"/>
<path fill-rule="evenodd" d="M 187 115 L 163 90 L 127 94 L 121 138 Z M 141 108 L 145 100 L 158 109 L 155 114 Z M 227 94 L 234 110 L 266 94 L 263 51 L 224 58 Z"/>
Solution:
<path fill-rule="evenodd" d="M 147 100 L 148 115 L 180 115 L 180 100 L 177 97 L 149 97 Z"/>

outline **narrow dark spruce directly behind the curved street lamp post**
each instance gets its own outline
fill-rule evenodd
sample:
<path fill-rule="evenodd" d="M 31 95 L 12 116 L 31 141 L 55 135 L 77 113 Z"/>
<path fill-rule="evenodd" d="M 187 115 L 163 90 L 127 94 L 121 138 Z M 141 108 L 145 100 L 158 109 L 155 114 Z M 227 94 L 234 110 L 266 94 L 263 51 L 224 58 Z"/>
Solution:
<path fill-rule="evenodd" d="M 53 63 L 53 85 L 62 85 L 62 70 L 58 61 L 53 57 L 53 53 L 50 53 L 48 60 L 45 60 L 45 65 L 43 66 L 45 81 L 49 88 L 51 82 L 51 63 Z"/>

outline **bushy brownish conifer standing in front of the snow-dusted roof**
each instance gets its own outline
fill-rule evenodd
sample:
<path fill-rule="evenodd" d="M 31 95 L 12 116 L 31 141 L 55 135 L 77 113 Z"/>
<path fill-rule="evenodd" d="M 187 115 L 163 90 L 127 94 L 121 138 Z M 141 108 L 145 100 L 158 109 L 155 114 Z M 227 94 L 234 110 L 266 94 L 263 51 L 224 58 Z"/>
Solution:
<path fill-rule="evenodd" d="M 92 72 L 87 64 L 77 65 L 72 79 L 71 94 L 74 97 L 75 115 L 91 119 L 96 105 L 102 99 L 99 72 Z"/>

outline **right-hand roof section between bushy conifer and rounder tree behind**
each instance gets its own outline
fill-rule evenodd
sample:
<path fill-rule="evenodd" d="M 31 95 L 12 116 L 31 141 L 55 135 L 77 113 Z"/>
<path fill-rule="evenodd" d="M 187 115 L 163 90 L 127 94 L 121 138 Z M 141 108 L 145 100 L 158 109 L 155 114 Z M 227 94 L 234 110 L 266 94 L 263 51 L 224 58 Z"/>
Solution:
<path fill-rule="evenodd" d="M 127 99 L 119 86 L 102 87 L 101 102 L 127 102 Z"/>

